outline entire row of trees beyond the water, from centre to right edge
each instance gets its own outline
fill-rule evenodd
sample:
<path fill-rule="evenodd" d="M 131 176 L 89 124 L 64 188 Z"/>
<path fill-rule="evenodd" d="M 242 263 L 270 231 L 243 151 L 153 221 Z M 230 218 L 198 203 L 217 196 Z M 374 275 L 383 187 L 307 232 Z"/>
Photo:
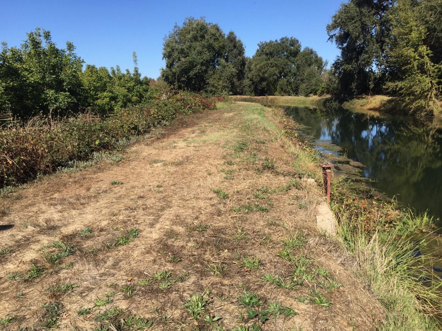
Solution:
<path fill-rule="evenodd" d="M 187 18 L 164 41 L 164 80 L 211 94 L 397 96 L 403 109 L 435 114 L 442 87 L 441 0 L 350 0 L 327 26 L 340 55 L 327 63 L 293 37 L 258 44 L 244 55 L 240 39 L 217 24 Z"/>

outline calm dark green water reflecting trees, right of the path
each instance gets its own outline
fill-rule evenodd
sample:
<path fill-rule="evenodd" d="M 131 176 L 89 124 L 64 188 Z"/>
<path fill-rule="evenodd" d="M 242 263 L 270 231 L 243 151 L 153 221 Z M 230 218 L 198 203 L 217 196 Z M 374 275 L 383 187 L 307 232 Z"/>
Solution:
<path fill-rule="evenodd" d="M 433 119 L 346 109 L 284 108 L 306 127 L 305 134 L 340 150 L 327 150 L 327 144 L 318 144 L 318 148 L 360 162 L 360 173 L 378 192 L 418 213 L 429 211 L 436 226 L 442 227 L 441 125 L 432 123 Z"/>

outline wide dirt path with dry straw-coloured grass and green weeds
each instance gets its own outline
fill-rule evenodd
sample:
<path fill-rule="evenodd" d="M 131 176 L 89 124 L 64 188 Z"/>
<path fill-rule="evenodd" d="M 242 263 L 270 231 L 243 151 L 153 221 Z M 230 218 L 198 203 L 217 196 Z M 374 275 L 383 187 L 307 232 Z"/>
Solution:
<path fill-rule="evenodd" d="M 226 107 L 3 199 L 3 327 L 375 329 L 382 309 L 318 235 L 318 191 L 264 107 Z"/>

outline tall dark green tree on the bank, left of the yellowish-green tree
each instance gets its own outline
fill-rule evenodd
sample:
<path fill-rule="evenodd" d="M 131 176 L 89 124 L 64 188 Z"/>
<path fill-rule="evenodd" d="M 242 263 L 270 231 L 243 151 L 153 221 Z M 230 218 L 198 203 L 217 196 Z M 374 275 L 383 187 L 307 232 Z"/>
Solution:
<path fill-rule="evenodd" d="M 327 25 L 328 40 L 340 55 L 333 63 L 336 94 L 351 97 L 381 91 L 385 80 L 385 50 L 390 24 L 387 12 L 394 0 L 350 0 Z"/>

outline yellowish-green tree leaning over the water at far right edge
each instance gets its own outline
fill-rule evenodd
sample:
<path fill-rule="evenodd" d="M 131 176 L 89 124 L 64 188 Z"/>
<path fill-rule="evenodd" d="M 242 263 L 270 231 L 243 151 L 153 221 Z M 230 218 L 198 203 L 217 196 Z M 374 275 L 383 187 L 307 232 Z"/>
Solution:
<path fill-rule="evenodd" d="M 424 44 L 427 36 L 419 21 L 421 8 L 412 0 L 398 0 L 389 11 L 391 41 L 387 52 L 389 83 L 412 113 L 433 114 L 439 97 L 441 65 L 431 61 L 432 52 Z"/>

